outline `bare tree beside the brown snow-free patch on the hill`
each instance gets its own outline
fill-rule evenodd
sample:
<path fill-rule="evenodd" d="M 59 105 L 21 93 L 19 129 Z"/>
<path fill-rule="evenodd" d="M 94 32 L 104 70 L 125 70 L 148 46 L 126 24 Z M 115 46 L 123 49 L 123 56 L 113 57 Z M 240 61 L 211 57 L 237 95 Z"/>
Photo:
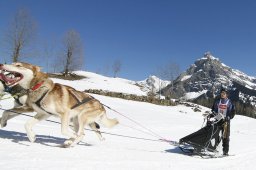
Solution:
<path fill-rule="evenodd" d="M 64 44 L 64 75 L 70 71 L 81 69 L 84 65 L 83 43 L 80 34 L 74 30 L 66 33 Z"/>

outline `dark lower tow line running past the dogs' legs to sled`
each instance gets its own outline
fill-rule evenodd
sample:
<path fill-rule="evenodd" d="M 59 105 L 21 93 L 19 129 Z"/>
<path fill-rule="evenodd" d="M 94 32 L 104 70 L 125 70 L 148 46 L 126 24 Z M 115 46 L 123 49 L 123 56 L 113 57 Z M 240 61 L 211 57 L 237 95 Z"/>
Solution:
<path fill-rule="evenodd" d="M 16 114 L 20 114 L 20 115 L 27 116 L 27 117 L 33 117 L 33 116 L 31 116 L 31 115 L 27 115 L 27 114 L 24 114 L 24 113 L 16 112 L 16 111 L 13 111 L 13 110 L 3 109 L 3 108 L 1 108 L 1 107 L 0 107 L 0 110 L 8 111 L 8 112 L 16 113 Z M 51 122 L 51 123 L 61 124 L 60 122 L 53 121 L 53 120 L 46 120 L 46 121 L 47 121 L 47 122 Z M 87 131 L 97 132 L 96 130 L 92 130 L 92 129 L 87 129 L 87 128 L 84 128 L 84 129 L 87 130 Z M 166 142 L 166 141 L 161 140 L 161 139 L 141 138 L 141 137 L 135 137 L 135 136 L 120 135 L 120 134 L 116 134 L 116 133 L 109 133 L 109 132 L 104 132 L 104 131 L 100 131 L 100 133 L 102 133 L 102 134 L 107 134 L 107 135 L 112 135 L 112 136 L 124 137 L 124 138 L 145 140 L 145 141 Z"/>

